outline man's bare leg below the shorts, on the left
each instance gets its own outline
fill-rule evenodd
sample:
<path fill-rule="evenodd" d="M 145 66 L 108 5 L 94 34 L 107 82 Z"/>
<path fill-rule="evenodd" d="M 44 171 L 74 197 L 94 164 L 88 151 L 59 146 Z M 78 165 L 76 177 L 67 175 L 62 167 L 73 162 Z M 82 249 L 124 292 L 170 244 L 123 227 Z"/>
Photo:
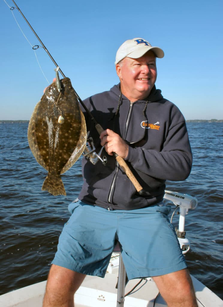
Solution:
<path fill-rule="evenodd" d="M 86 275 L 52 264 L 43 307 L 74 307 L 74 293 Z"/>

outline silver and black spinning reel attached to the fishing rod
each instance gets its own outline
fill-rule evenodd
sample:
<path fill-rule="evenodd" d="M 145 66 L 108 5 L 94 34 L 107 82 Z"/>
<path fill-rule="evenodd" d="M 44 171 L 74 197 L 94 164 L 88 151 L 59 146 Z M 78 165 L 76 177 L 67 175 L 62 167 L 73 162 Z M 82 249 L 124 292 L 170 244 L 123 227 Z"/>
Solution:
<path fill-rule="evenodd" d="M 86 147 L 83 151 L 83 156 L 86 157 L 92 164 L 96 164 L 99 160 L 103 163 L 103 165 L 106 165 L 107 163 L 107 157 L 104 156 L 103 158 L 101 157 L 102 150 L 104 149 L 105 146 L 102 146 L 100 149 L 99 153 L 95 152 L 95 147 L 94 147 L 94 142 L 93 138 L 89 135 L 87 135 L 87 143 Z"/>

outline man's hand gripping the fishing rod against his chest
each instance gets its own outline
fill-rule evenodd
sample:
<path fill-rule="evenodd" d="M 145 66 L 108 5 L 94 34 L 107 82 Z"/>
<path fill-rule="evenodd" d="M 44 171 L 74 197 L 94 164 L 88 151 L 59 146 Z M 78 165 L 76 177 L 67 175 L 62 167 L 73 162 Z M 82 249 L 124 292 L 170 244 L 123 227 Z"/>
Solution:
<path fill-rule="evenodd" d="M 129 145 L 114 131 L 106 129 L 100 135 L 101 145 L 105 145 L 106 152 L 112 156 L 113 152 L 125 159 L 129 153 Z"/>

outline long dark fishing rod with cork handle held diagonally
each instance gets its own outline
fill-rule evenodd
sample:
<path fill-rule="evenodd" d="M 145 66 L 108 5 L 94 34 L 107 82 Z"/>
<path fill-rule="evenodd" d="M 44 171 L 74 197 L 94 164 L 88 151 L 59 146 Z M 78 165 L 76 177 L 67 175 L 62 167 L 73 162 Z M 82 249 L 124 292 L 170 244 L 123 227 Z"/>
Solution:
<path fill-rule="evenodd" d="M 25 21 L 27 22 L 27 24 L 29 25 L 30 29 L 33 31 L 33 33 L 35 34 L 35 36 L 37 37 L 38 41 L 40 42 L 40 44 L 42 45 L 43 49 L 47 52 L 48 56 L 51 58 L 51 60 L 53 61 L 53 63 L 56 65 L 56 67 L 58 67 L 59 72 L 61 73 L 61 75 L 63 76 L 63 78 L 65 78 L 64 73 L 62 72 L 62 70 L 59 68 L 58 64 L 56 63 L 56 61 L 54 60 L 54 58 L 52 57 L 52 55 L 49 53 L 48 49 L 46 48 L 46 46 L 43 44 L 43 42 L 40 40 L 39 36 L 37 35 L 37 33 L 34 31 L 33 27 L 30 25 L 29 21 L 25 18 L 25 16 L 22 14 L 21 10 L 19 9 L 19 7 L 17 6 L 17 4 L 15 3 L 14 0 L 12 0 L 12 2 L 14 3 L 14 5 L 16 6 L 17 10 L 19 11 L 19 13 L 22 15 L 22 17 L 25 19 Z M 13 10 L 14 7 L 11 7 L 10 10 Z M 33 49 L 38 49 L 40 46 L 35 45 L 33 46 Z M 75 95 L 77 97 L 77 99 L 79 100 L 79 102 L 81 103 L 81 105 L 83 106 L 84 110 L 87 112 L 87 114 L 90 116 L 91 120 L 94 122 L 95 128 L 98 131 L 98 134 L 100 135 L 102 133 L 102 131 L 104 131 L 104 129 L 102 128 L 102 126 L 95 120 L 95 118 L 93 117 L 93 115 L 90 113 L 90 111 L 87 109 L 87 107 L 85 106 L 85 104 L 83 103 L 83 101 L 80 99 L 79 95 L 77 94 L 77 92 L 75 91 L 75 89 L 73 88 Z M 131 180 L 131 182 L 133 183 L 133 185 L 135 186 L 137 192 L 139 194 L 142 194 L 144 192 L 142 186 L 139 184 L 139 182 L 137 181 L 136 177 L 133 175 L 132 171 L 129 169 L 129 166 L 126 164 L 125 160 L 118 156 L 117 153 L 113 153 L 116 161 L 119 163 L 119 165 L 121 166 L 121 169 L 126 173 L 127 177 L 129 177 L 129 179 Z"/>

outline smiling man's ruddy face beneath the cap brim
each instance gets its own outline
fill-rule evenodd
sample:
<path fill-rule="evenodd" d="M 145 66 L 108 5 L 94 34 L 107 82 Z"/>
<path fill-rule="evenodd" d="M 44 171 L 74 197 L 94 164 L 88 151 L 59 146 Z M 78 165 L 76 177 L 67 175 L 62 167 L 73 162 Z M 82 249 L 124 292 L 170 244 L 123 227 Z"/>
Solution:
<path fill-rule="evenodd" d="M 130 101 L 148 97 L 156 82 L 156 57 L 152 51 L 133 59 L 125 57 L 116 65 L 121 92 Z"/>

